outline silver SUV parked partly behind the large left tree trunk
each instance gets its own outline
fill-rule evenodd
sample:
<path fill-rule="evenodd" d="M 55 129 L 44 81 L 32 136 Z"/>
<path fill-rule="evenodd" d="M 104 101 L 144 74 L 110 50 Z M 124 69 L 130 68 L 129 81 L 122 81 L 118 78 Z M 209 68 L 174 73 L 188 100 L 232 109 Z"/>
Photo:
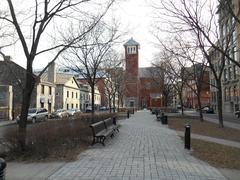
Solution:
<path fill-rule="evenodd" d="M 28 122 L 38 122 L 38 121 L 46 121 L 48 119 L 48 111 L 45 108 L 31 108 L 28 110 Z M 17 116 L 17 123 L 19 123 L 20 116 Z"/>

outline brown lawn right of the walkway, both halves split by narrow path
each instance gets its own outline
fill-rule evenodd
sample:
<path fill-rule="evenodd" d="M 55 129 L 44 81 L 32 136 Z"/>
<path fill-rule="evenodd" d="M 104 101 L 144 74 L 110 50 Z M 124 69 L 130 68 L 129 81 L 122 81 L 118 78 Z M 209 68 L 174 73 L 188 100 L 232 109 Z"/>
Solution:
<path fill-rule="evenodd" d="M 168 117 L 168 127 L 185 131 L 185 124 L 191 124 L 191 132 L 204 136 L 240 142 L 240 130 L 219 128 L 218 124 L 200 122 L 196 117 Z M 240 148 L 225 146 L 213 142 L 191 139 L 192 154 L 212 166 L 240 170 Z"/>

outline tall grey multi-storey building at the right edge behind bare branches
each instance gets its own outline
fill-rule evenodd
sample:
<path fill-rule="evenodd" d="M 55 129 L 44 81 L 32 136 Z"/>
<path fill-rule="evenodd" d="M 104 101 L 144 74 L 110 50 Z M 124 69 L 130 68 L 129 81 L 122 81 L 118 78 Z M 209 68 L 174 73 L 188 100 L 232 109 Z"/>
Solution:
<path fill-rule="evenodd" d="M 240 62 L 240 24 L 231 15 L 227 5 L 231 3 L 232 12 L 240 19 L 239 0 L 226 1 L 222 0 L 219 5 L 219 27 L 220 39 L 218 43 L 222 44 L 223 49 L 227 50 L 228 55 L 235 61 Z M 219 59 L 222 54 L 215 49 L 209 50 L 212 62 L 217 68 Z M 210 74 L 210 83 L 215 84 L 213 74 Z M 217 105 L 217 90 L 211 87 L 211 104 L 214 108 Z M 235 112 L 240 109 L 240 68 L 231 62 L 229 59 L 225 61 L 225 67 L 222 75 L 222 96 L 223 96 L 223 111 Z"/>

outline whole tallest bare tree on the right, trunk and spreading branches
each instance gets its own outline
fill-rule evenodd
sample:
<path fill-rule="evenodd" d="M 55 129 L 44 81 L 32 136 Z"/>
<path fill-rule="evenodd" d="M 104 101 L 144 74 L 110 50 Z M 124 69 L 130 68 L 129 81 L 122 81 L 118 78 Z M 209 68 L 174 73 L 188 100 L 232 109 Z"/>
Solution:
<path fill-rule="evenodd" d="M 214 3 L 214 2 L 213 2 Z M 160 5 L 154 4 L 155 9 L 158 11 L 158 15 L 162 19 L 167 19 L 168 26 L 165 31 L 169 33 L 181 33 L 182 36 L 191 34 L 191 37 L 197 40 L 197 45 L 205 56 L 211 71 L 216 80 L 216 86 L 218 89 L 218 116 L 219 126 L 223 127 L 223 116 L 222 116 L 222 91 L 221 91 L 221 77 L 225 67 L 226 59 L 231 61 L 240 67 L 239 61 L 232 56 L 233 52 L 237 50 L 233 48 L 232 44 L 236 42 L 234 34 L 236 32 L 236 21 L 231 15 L 224 15 L 224 9 L 222 6 L 213 4 L 212 1 L 187 1 L 179 0 L 177 3 L 173 0 L 161 0 Z M 216 16 L 220 12 L 219 18 Z M 225 11 L 226 12 L 226 11 Z M 206 14 L 208 14 L 206 16 Z M 160 17 L 158 16 L 158 17 Z M 226 22 L 227 27 L 223 29 L 219 27 L 219 19 L 224 19 L 222 22 Z M 163 30 L 162 28 L 159 28 Z M 225 34 L 226 33 L 226 34 Z M 214 66 L 209 57 L 208 50 L 213 48 L 220 54 L 219 67 Z"/>

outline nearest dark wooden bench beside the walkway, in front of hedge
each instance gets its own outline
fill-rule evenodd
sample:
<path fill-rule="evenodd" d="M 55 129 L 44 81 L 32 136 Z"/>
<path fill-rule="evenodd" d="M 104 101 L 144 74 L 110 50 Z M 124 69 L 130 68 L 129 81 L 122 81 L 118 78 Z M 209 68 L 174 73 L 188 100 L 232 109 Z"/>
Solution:
<path fill-rule="evenodd" d="M 101 143 L 105 146 L 104 141 L 106 138 L 109 136 L 112 138 L 114 136 L 114 131 L 119 132 L 118 127 L 119 126 L 114 125 L 112 118 L 91 124 L 90 128 L 92 129 L 93 134 L 92 145 L 95 143 Z"/>

